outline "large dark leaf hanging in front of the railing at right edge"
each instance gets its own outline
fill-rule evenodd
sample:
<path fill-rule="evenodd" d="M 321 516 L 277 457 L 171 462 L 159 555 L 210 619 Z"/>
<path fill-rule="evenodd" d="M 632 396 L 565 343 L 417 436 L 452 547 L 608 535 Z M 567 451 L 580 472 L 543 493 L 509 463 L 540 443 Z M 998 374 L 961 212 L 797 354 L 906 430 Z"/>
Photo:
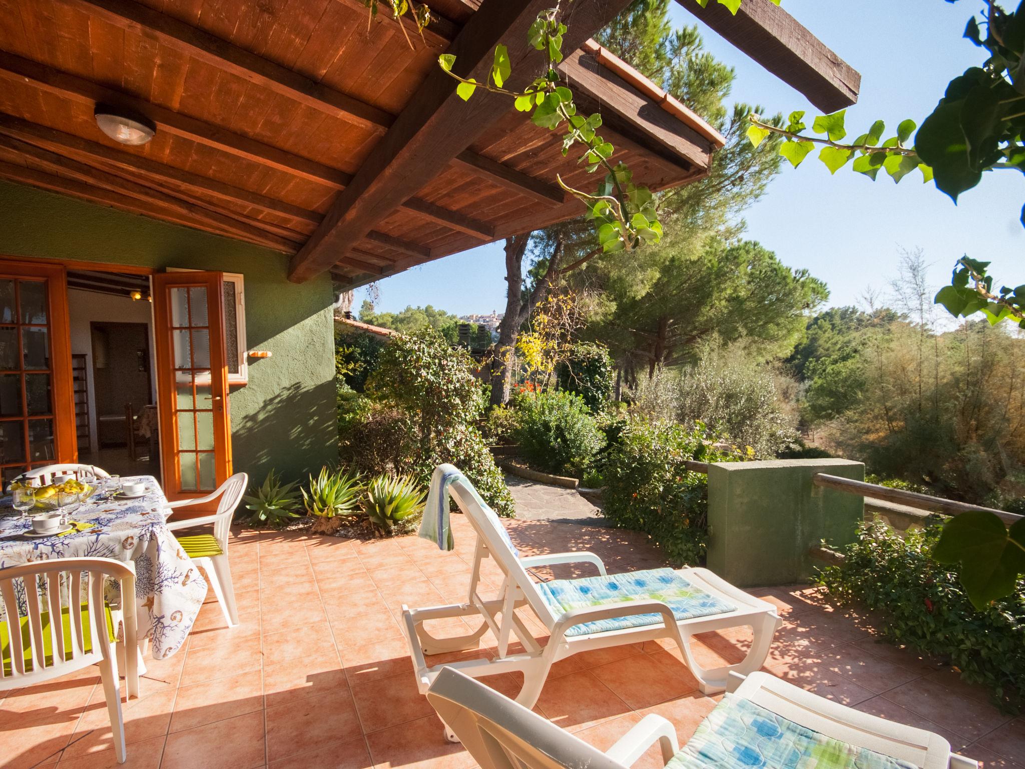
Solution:
<path fill-rule="evenodd" d="M 1008 529 L 993 513 L 969 511 L 943 525 L 933 559 L 960 564 L 959 578 L 975 608 L 1014 594 L 1025 573 L 1025 519 Z"/>

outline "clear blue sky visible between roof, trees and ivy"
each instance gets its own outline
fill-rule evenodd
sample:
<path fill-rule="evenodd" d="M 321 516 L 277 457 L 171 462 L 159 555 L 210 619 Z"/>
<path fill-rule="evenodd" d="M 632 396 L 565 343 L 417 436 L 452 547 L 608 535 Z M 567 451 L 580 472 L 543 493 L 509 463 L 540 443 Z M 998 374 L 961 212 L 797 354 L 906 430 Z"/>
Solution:
<path fill-rule="evenodd" d="M 847 112 L 852 136 L 877 119 L 886 121 L 888 136 L 905 118 L 920 123 L 947 82 L 982 62 L 980 49 L 960 37 L 978 6 L 972 0 L 901 0 L 896 6 L 884 0 L 783 0 L 787 11 L 861 73 L 861 95 Z M 676 24 L 693 23 L 683 6 L 673 4 L 672 12 Z M 761 105 L 766 114 L 818 114 L 804 96 L 715 33 L 702 32 L 707 49 L 737 71 L 731 100 Z M 745 237 L 824 280 L 830 305 L 854 303 L 869 286 L 885 290 L 900 247 L 924 250 L 937 287 L 962 253 L 992 261 L 997 285 L 1017 285 L 1025 283 L 1025 230 L 1018 220 L 1023 192 L 1019 174 L 994 172 L 955 206 L 932 184 L 924 185 L 917 172 L 899 186 L 881 173 L 873 183 L 850 166 L 830 176 L 809 156 L 799 168 L 787 164 L 767 195 L 745 211 Z M 380 281 L 377 308 L 394 312 L 434 305 L 459 315 L 501 312 L 503 277 L 501 245 L 492 244 Z M 358 292 L 357 308 L 366 295 L 366 289 Z"/>

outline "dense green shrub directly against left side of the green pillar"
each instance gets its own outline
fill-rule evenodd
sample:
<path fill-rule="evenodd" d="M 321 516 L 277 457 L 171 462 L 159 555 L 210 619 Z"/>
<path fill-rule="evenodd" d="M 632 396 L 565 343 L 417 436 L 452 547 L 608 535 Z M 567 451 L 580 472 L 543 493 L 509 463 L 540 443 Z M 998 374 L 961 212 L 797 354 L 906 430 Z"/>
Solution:
<path fill-rule="evenodd" d="M 706 445 L 703 427 L 630 416 L 605 460 L 603 508 L 615 526 L 647 532 L 676 564 L 698 565 L 708 543 L 708 485 L 687 459 L 730 457 Z"/>

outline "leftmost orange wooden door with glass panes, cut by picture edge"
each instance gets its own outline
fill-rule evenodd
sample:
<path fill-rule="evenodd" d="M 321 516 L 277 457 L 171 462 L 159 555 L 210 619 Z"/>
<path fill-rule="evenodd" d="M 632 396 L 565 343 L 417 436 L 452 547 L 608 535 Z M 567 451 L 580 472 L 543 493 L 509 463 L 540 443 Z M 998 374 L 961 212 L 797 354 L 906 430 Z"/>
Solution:
<path fill-rule="evenodd" d="M 77 459 L 64 268 L 0 259 L 3 484 L 30 468 Z"/>

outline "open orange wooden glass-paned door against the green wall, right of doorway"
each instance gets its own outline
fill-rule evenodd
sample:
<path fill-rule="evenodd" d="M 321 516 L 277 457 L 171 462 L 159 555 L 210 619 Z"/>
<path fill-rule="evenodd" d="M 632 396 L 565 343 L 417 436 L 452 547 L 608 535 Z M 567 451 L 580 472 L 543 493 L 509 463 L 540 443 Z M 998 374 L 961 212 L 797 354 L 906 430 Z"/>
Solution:
<path fill-rule="evenodd" d="M 153 277 L 164 490 L 202 496 L 232 474 L 220 273 Z"/>

